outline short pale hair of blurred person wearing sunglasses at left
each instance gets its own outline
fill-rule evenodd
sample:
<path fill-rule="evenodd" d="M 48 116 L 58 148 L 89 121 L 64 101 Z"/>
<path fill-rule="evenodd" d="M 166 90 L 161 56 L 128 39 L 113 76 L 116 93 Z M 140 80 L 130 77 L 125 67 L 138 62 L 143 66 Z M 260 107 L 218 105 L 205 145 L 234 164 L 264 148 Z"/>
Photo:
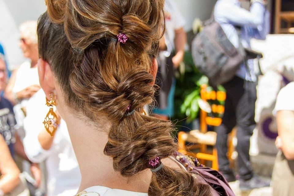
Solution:
<path fill-rule="evenodd" d="M 19 31 L 25 38 L 30 39 L 33 43 L 38 43 L 37 21 L 25 21 L 19 26 Z"/>

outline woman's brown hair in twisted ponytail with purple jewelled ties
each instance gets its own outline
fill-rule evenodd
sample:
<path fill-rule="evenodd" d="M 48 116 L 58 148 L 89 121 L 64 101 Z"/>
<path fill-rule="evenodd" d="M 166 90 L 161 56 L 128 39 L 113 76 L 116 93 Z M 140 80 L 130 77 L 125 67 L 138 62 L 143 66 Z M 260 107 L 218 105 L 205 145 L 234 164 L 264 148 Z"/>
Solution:
<path fill-rule="evenodd" d="M 93 122 L 110 122 L 104 153 L 115 171 L 131 177 L 150 168 L 151 158 L 172 156 L 171 122 L 141 114 L 153 103 L 150 72 L 164 31 L 164 1 L 47 0 L 47 6 L 38 24 L 40 56 L 72 107 Z M 120 33 L 126 43 L 117 40 Z M 148 194 L 210 195 L 211 189 L 188 171 L 164 165 L 152 173 Z"/>

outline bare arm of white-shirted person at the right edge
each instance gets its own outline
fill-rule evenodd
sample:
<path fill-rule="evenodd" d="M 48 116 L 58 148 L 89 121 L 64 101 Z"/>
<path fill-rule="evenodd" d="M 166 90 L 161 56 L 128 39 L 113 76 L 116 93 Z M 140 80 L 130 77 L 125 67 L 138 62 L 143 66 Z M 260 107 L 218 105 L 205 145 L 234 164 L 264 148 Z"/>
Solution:
<path fill-rule="evenodd" d="M 294 159 L 294 111 L 277 112 L 278 134 L 281 139 L 281 150 L 288 160 Z"/>

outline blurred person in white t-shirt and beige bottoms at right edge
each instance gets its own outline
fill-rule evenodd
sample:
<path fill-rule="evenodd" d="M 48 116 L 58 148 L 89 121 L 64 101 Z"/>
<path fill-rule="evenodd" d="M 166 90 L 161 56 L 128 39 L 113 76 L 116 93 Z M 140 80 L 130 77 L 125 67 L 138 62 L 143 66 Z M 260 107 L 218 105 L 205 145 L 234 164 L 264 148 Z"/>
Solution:
<path fill-rule="evenodd" d="M 276 113 L 279 136 L 273 168 L 273 195 L 291 196 L 294 193 L 294 82 L 289 83 L 277 96 Z"/>

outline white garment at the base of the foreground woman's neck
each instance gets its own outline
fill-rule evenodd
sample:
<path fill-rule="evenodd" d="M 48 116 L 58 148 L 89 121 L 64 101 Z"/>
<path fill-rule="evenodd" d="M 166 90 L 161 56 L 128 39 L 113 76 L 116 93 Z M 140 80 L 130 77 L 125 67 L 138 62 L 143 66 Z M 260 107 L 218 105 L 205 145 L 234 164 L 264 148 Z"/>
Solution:
<path fill-rule="evenodd" d="M 148 196 L 147 193 L 139 193 L 121 189 L 95 186 L 87 188 L 76 196 Z"/>

